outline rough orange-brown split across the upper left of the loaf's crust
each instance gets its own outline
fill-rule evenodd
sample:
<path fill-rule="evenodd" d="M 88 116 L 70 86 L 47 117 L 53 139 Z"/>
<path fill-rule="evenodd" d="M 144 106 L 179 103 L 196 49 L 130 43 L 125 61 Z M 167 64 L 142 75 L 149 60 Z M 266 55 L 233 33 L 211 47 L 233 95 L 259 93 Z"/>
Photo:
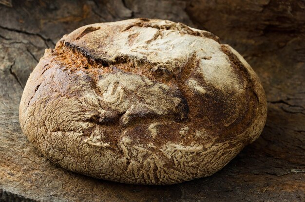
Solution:
<path fill-rule="evenodd" d="M 81 70 L 94 75 L 123 71 L 145 75 L 146 77 L 166 83 L 173 75 L 166 69 L 159 68 L 157 64 L 151 64 L 143 59 L 136 57 L 117 56 L 114 60 L 106 58 L 96 59 L 86 50 L 75 46 L 72 43 L 59 41 L 55 48 L 57 60 L 69 68 L 71 72 Z"/>

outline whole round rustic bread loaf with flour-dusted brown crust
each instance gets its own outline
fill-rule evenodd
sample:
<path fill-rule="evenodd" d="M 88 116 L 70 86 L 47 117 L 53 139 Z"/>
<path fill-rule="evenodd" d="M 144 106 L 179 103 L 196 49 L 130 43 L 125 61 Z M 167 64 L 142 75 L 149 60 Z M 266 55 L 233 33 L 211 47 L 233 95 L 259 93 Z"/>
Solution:
<path fill-rule="evenodd" d="M 159 19 L 97 23 L 46 49 L 22 95 L 23 132 L 68 170 L 128 184 L 209 176 L 258 138 L 265 92 L 210 32 Z"/>

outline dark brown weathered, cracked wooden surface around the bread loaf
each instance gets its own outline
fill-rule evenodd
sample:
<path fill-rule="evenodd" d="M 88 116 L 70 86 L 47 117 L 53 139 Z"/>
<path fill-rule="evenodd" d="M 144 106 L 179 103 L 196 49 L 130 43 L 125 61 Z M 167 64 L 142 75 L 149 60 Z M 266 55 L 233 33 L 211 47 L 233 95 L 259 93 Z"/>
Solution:
<path fill-rule="evenodd" d="M 261 137 L 208 178 L 118 184 L 52 165 L 19 127 L 26 80 L 57 40 L 95 22 L 166 18 L 206 29 L 239 51 L 268 100 Z M 0 0 L 0 201 L 305 201 L 304 0 Z"/>

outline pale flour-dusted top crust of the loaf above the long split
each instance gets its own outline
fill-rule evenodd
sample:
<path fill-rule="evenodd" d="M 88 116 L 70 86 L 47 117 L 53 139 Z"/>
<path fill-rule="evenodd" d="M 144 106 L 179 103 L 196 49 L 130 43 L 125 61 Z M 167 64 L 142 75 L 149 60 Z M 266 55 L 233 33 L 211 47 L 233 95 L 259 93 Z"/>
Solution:
<path fill-rule="evenodd" d="M 219 51 L 218 37 L 182 23 L 157 19 L 98 23 L 76 29 L 62 39 L 104 64 L 114 65 L 127 58 L 149 63 L 154 71 L 160 68 L 164 73 L 181 71 L 195 57 L 207 82 L 225 91 L 243 88 L 225 53 Z"/>

